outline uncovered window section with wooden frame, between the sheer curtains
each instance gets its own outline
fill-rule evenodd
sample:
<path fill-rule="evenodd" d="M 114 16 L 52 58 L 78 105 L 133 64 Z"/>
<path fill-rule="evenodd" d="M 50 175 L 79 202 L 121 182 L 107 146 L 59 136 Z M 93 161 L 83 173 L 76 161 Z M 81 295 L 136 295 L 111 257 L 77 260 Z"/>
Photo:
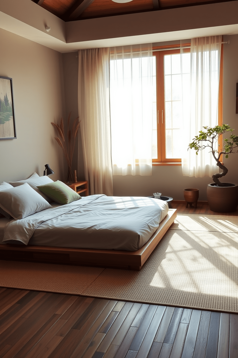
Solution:
<path fill-rule="evenodd" d="M 187 44 L 189 45 L 189 44 Z M 162 165 L 181 163 L 181 125 L 189 116 L 190 49 L 153 51 L 152 161 Z M 218 124 L 222 123 L 222 53 L 219 83 Z M 196 133 L 194 133 L 194 136 Z M 221 140 L 221 139 L 220 139 Z"/>

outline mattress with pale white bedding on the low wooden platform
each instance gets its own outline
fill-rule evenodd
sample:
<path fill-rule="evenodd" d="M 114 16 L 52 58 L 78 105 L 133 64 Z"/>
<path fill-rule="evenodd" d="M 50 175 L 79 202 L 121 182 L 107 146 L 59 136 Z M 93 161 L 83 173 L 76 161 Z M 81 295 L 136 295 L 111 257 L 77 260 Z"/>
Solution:
<path fill-rule="evenodd" d="M 14 225 L 21 224 L 24 230 L 36 227 L 28 245 L 135 251 L 150 239 L 167 212 L 168 204 L 159 199 L 91 195 L 18 223 L 12 220 L 7 228 L 12 227 L 12 240 L 6 243 L 19 243 L 14 242 Z"/>

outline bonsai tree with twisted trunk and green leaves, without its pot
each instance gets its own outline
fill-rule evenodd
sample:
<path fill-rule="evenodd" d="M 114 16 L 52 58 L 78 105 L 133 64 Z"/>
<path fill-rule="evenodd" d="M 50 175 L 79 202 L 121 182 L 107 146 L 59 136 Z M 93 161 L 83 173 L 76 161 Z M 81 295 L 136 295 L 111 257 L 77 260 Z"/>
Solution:
<path fill-rule="evenodd" d="M 218 187 L 224 187 L 226 186 L 226 183 L 221 183 L 219 178 L 226 175 L 228 169 L 221 163 L 220 158 L 222 154 L 226 155 L 226 158 L 228 158 L 228 154 L 237 153 L 238 136 L 232 134 L 233 129 L 231 129 L 228 124 L 223 124 L 222 126 L 216 126 L 213 128 L 210 128 L 208 126 L 203 128 L 204 131 L 199 131 L 199 135 L 193 138 L 193 142 L 188 145 L 188 149 L 193 148 L 196 150 L 196 154 L 198 154 L 199 150 L 203 150 L 206 147 L 211 148 L 211 152 L 217 162 L 217 166 L 222 170 L 221 173 L 213 174 L 212 179 Z M 219 150 L 219 146 L 218 150 L 216 150 L 215 146 L 219 136 L 223 135 L 226 132 L 230 132 L 231 135 L 229 136 L 229 138 L 224 139 L 224 145 L 221 150 Z"/>

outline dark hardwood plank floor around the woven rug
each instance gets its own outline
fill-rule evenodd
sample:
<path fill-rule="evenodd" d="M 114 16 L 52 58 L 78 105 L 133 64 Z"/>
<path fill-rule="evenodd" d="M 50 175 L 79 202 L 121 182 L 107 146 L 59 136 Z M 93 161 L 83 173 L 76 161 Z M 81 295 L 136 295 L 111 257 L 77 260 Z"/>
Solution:
<path fill-rule="evenodd" d="M 238 314 L 0 287 L 0 357 L 237 358 Z"/>

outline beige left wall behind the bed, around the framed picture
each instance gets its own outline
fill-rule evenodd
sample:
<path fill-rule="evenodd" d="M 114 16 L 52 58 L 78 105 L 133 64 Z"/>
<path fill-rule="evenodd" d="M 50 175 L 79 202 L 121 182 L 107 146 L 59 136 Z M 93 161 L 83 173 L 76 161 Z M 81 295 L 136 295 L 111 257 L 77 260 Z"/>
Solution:
<path fill-rule="evenodd" d="M 64 179 L 50 122 L 64 116 L 62 54 L 0 29 L 0 76 L 11 77 L 17 139 L 0 140 L 0 182 L 43 175 L 45 164 Z"/>

